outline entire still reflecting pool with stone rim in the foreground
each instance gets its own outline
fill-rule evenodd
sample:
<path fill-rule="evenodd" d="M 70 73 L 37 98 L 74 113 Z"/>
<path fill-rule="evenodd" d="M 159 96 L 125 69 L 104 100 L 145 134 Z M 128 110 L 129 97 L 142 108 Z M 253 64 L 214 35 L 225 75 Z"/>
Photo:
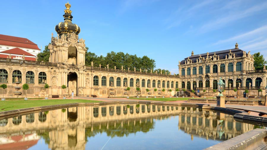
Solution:
<path fill-rule="evenodd" d="M 0 149 L 204 149 L 260 127 L 202 108 L 112 104 L 0 120 Z"/>

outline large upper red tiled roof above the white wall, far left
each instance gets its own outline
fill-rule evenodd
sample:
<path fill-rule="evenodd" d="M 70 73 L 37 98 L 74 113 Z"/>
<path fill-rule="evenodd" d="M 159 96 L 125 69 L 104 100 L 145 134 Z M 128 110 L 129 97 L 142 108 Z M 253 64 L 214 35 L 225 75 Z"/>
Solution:
<path fill-rule="evenodd" d="M 14 46 L 14 47 L 23 47 L 39 50 L 37 44 L 31 42 L 26 38 L 16 37 L 16 36 L 8 36 L 0 34 L 0 45 Z"/>

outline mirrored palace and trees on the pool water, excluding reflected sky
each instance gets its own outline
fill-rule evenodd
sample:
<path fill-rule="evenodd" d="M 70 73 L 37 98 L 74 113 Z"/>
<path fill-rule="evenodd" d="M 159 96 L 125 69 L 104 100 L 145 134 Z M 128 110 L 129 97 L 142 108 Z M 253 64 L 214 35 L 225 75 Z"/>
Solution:
<path fill-rule="evenodd" d="M 149 132 L 155 120 L 179 115 L 178 129 L 194 136 L 228 140 L 255 125 L 236 122 L 228 114 L 202 108 L 146 104 L 85 106 L 32 113 L 0 120 L 2 149 L 27 148 L 43 138 L 49 149 L 85 149 L 88 138 L 98 133 L 124 137 Z M 15 143 L 15 144 L 14 144 Z"/>

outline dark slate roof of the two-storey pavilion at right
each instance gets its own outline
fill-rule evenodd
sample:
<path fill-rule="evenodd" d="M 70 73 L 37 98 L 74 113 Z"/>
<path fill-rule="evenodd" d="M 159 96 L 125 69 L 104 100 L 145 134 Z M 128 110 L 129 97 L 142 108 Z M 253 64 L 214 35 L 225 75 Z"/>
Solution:
<path fill-rule="evenodd" d="M 234 48 L 234 49 L 229 49 L 229 50 L 221 50 L 221 51 L 216 51 L 216 55 L 219 55 L 220 57 L 220 60 L 221 59 L 225 59 L 225 55 L 227 55 L 228 57 L 228 53 L 230 52 L 235 54 L 235 57 L 238 58 L 238 57 L 243 57 L 243 50 L 240 50 L 239 48 Z M 189 59 L 192 60 L 192 63 L 196 63 L 196 59 L 199 58 L 199 56 L 201 55 L 201 57 L 207 57 L 207 53 L 203 53 L 203 54 L 198 54 L 198 55 L 193 55 L 193 56 L 190 56 Z M 209 52 L 209 56 L 213 56 L 214 55 L 214 52 Z M 182 60 L 180 62 L 180 65 L 184 65 L 185 64 L 185 61 L 188 59 L 185 58 L 184 60 Z"/>

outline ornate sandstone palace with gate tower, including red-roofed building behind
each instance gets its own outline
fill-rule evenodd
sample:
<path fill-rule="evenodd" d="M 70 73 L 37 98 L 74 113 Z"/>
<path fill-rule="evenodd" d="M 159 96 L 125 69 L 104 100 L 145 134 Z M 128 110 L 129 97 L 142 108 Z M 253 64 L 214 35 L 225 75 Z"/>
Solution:
<path fill-rule="evenodd" d="M 64 21 L 55 26 L 57 36 L 51 36 L 49 62 L 36 61 L 36 44 L 25 38 L 0 35 L 0 90 L 4 97 L 77 96 L 211 96 L 217 92 L 217 82 L 225 82 L 224 95 L 258 96 L 258 89 L 266 86 L 266 70 L 254 70 L 253 55 L 236 47 L 231 50 L 192 55 L 179 62 L 179 76 L 136 68 L 85 66 L 85 40 L 81 29 L 72 23 L 69 3 L 65 4 Z M 4 47 L 4 48 L 3 48 Z M 9 50 L 7 49 L 9 48 Z M 3 50 L 4 49 L 4 50 Z M 102 66 L 101 66 L 102 65 Z M 29 89 L 22 90 L 27 83 Z M 45 89 L 45 84 L 50 87 Z M 62 89 L 66 85 L 66 89 Z M 130 87 L 130 90 L 127 90 Z M 237 89 L 234 92 L 233 89 Z M 163 90 L 164 89 L 164 90 Z M 177 91 L 179 89 L 179 92 Z M 186 89 L 186 91 L 183 91 Z M 192 90 L 196 90 L 192 93 Z M 198 93 L 199 92 L 199 93 Z"/>

